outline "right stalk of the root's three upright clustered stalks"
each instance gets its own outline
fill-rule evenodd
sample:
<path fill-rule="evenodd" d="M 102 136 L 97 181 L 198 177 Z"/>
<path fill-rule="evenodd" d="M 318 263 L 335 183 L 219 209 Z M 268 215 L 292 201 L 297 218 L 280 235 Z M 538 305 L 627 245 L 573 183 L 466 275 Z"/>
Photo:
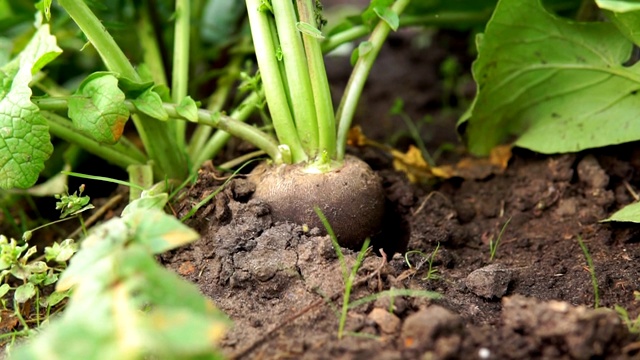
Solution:
<path fill-rule="evenodd" d="M 314 4 L 311 0 L 297 0 L 298 14 L 303 23 L 316 26 Z M 303 33 L 302 40 L 306 53 L 309 78 L 313 89 L 313 101 L 319 133 L 319 153 L 333 159 L 336 154 L 336 121 L 333 114 L 333 102 L 327 71 L 324 67 L 322 48 L 317 38 Z M 317 154 L 317 155 L 320 155 Z"/>

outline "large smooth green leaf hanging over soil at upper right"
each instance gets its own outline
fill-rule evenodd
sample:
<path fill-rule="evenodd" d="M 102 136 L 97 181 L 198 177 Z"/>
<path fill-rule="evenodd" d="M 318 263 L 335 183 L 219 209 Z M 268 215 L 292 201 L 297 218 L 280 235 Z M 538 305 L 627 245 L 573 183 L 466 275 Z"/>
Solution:
<path fill-rule="evenodd" d="M 640 139 L 640 69 L 610 23 L 577 23 L 538 0 L 501 0 L 477 39 L 478 94 L 459 121 L 471 152 L 515 138 L 542 153 Z"/>

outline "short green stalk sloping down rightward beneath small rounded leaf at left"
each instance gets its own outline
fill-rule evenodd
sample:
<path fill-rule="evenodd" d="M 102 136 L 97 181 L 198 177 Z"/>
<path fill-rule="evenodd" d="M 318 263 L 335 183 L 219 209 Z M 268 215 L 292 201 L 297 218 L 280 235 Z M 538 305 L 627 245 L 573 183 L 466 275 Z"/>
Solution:
<path fill-rule="evenodd" d="M 76 144 L 116 166 L 126 169 L 129 165 L 140 165 L 147 162 L 146 157 L 144 157 L 142 153 L 132 151 L 129 146 L 121 142 L 115 145 L 99 144 L 92 138 L 79 133 L 78 130 L 73 127 L 71 121 L 64 117 L 47 111 L 43 111 L 41 114 L 47 120 L 51 134 L 69 143 Z"/>

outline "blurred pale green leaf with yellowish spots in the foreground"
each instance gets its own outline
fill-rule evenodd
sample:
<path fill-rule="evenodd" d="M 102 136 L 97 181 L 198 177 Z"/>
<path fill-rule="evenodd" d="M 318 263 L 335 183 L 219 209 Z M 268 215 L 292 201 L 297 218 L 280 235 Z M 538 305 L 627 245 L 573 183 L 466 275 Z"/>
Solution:
<path fill-rule="evenodd" d="M 222 358 L 216 343 L 227 317 L 152 254 L 197 233 L 153 200 L 136 200 L 125 217 L 92 229 L 56 287 L 72 290 L 65 311 L 13 359 Z"/>

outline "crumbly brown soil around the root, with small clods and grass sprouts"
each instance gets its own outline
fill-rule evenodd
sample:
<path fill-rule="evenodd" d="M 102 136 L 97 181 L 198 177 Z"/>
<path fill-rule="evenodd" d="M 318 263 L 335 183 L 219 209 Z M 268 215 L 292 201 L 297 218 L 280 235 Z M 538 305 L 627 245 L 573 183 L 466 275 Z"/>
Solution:
<path fill-rule="evenodd" d="M 380 297 L 354 307 L 340 340 L 344 283 L 329 237 L 274 224 L 246 179 L 232 181 L 191 221 L 199 242 L 163 260 L 234 321 L 221 344 L 230 358 L 638 358 L 637 335 L 611 310 L 619 304 L 638 316 L 637 227 L 598 222 L 633 200 L 628 184 L 640 164 L 630 161 L 638 158 L 630 149 L 552 157 L 516 151 L 504 174 L 430 189 L 385 170 L 380 154 L 361 154 L 402 219 L 382 240 L 410 253 L 367 253 L 351 301 L 389 289 L 442 297 Z M 203 170 L 180 215 L 215 191 L 216 179 Z M 488 244 L 509 219 L 491 261 Z M 593 258 L 597 310 L 578 237 Z M 343 251 L 350 268 L 357 252 Z"/>

